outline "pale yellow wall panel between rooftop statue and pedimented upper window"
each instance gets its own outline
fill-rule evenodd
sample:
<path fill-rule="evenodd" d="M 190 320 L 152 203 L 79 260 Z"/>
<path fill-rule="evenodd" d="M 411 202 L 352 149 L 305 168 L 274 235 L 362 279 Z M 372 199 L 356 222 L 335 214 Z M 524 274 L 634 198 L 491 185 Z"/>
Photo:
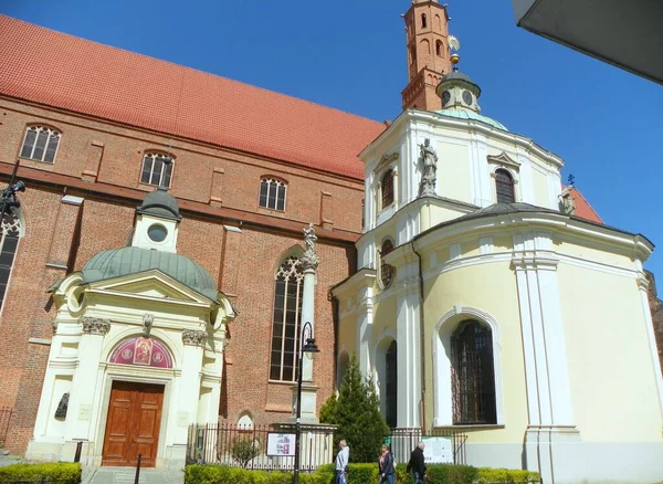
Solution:
<path fill-rule="evenodd" d="M 438 143 L 438 194 L 472 203 L 470 149 L 467 146 Z"/>

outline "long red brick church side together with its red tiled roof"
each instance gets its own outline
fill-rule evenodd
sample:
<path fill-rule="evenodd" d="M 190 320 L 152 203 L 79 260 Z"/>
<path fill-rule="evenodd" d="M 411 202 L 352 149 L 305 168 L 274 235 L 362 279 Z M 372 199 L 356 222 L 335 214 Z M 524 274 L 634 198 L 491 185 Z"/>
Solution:
<path fill-rule="evenodd" d="M 48 288 L 127 245 L 136 208 L 159 183 L 181 210 L 178 252 L 236 308 L 221 383 L 230 421 L 292 414 L 293 375 L 270 369 L 275 273 L 315 225 L 319 407 L 335 382 L 328 287 L 355 270 L 361 232 L 356 155 L 385 126 L 7 17 L 0 25 L 0 173 L 7 182 L 19 159 L 28 186 L 18 244 L 0 262 L 0 407 L 13 409 L 4 448 L 22 453 L 33 434 L 55 317 Z"/>

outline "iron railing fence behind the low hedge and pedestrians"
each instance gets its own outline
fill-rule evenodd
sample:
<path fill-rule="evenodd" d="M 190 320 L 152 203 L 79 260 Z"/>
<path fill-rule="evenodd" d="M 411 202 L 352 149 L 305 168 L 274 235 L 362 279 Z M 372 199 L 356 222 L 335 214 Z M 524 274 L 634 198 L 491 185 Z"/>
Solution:
<path fill-rule="evenodd" d="M 323 464 L 334 462 L 336 441 L 334 427 L 302 425 L 299 439 L 299 469 L 303 472 L 315 471 Z M 207 425 L 191 425 L 187 446 L 187 462 L 199 464 L 218 464 L 252 470 L 293 471 L 294 456 L 267 455 L 267 434 L 270 432 L 295 433 L 294 424 L 242 427 L 234 423 L 220 422 Z M 366 435 L 344 435 L 350 444 Z M 429 438 L 435 442 L 431 442 Z M 391 453 L 398 463 L 407 463 L 410 453 L 420 441 L 439 445 L 435 451 L 443 452 L 448 461 L 465 464 L 465 441 L 467 435 L 455 429 L 440 429 L 423 432 L 421 429 L 392 429 L 387 436 L 391 444 Z M 288 443 L 294 451 L 294 440 Z M 431 449 L 429 452 L 432 452 Z"/>

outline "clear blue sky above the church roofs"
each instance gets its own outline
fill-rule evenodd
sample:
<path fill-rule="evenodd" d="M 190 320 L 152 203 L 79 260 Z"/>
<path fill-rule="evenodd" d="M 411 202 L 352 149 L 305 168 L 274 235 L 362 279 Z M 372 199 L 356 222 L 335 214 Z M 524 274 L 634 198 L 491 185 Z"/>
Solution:
<path fill-rule="evenodd" d="M 663 251 L 663 86 L 518 29 L 506 0 L 449 3 L 482 113 L 566 161 L 610 225 Z M 408 0 L 0 0 L 54 30 L 377 120 L 400 112 Z M 663 286 L 663 255 L 646 264 Z"/>

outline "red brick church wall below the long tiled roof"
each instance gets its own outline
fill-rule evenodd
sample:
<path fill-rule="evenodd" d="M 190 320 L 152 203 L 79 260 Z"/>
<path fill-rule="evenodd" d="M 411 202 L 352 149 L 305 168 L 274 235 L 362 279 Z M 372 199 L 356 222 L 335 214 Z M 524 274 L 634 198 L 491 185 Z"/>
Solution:
<path fill-rule="evenodd" d="M 327 291 L 354 269 L 352 240 L 361 224 L 361 181 L 12 99 L 0 99 L 0 168 L 17 159 L 25 126 L 32 123 L 60 129 L 62 140 L 53 165 L 21 159 L 21 167 L 38 171 L 20 171 L 28 185 L 20 194 L 25 236 L 19 244 L 0 316 L 0 406 L 17 409 L 6 442 L 10 451 L 23 452 L 32 435 L 50 347 L 29 339 L 52 337 L 54 305 L 46 290 L 66 273 L 46 266 L 49 256 L 64 259 L 62 244 L 71 233 L 80 235 L 80 244 L 72 244 L 74 270 L 94 254 L 127 243 L 139 204 L 139 192 L 135 190 L 154 190 L 139 183 L 147 149 L 168 151 L 176 159 L 171 193 L 178 197 L 180 207 L 188 208 L 182 209 L 178 253 L 204 266 L 219 281 L 219 287 L 230 293 L 240 313 L 231 324 L 227 348 L 223 410 L 231 420 L 244 410 L 262 423 L 290 417 L 291 386 L 269 382 L 274 273 L 291 248 L 303 245 L 301 229 L 306 223 L 317 225 L 323 218 L 328 221 L 326 228 L 333 230 L 317 230 L 322 262 L 315 315 L 316 340 L 322 350 L 315 360 L 315 382 L 319 386 L 318 404 L 324 402 L 334 382 L 334 324 Z M 4 167 L 9 172 L 9 166 Z M 260 178 L 264 175 L 287 180 L 285 212 L 257 207 Z M 2 176 L 0 185 L 7 178 Z M 80 209 L 60 212 L 65 192 L 84 199 Z M 323 192 L 327 197 L 324 204 Z M 221 202 L 214 204 L 212 196 Z M 236 209 L 236 217 L 228 220 L 197 211 L 202 206 Z M 67 224 L 60 228 L 66 236 L 56 236 L 59 213 L 61 223 Z M 274 223 L 255 222 L 252 214 L 256 213 L 272 215 Z M 74 223 L 80 224 L 77 231 L 69 227 Z M 227 232 L 224 224 L 240 227 L 242 232 Z M 53 243 L 59 245 L 52 249 Z"/>

